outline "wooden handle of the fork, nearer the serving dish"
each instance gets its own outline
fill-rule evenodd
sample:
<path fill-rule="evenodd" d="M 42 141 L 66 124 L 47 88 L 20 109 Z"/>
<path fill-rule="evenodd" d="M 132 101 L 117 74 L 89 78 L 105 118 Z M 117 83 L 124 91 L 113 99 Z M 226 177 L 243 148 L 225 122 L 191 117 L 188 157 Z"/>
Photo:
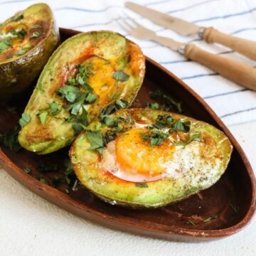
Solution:
<path fill-rule="evenodd" d="M 220 55 L 208 53 L 206 50 L 188 44 L 185 48 L 186 58 L 194 60 L 214 70 L 225 78 L 239 85 L 256 90 L 256 69 L 250 65 Z"/>

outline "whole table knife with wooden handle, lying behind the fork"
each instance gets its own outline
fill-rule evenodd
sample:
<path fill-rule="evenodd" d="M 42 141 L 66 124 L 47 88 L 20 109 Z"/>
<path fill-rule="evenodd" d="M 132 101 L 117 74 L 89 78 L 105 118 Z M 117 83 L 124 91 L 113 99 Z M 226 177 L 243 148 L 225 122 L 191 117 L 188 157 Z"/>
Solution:
<path fill-rule="evenodd" d="M 144 18 L 148 18 L 150 21 L 154 21 L 154 23 L 164 26 L 165 28 L 170 28 L 183 36 L 197 34 L 201 39 L 206 41 L 206 43 L 220 43 L 223 46 L 227 46 L 228 48 L 245 55 L 247 58 L 256 60 L 255 41 L 230 36 L 213 27 L 205 28 L 197 26 L 196 24 L 184 21 L 181 18 L 176 18 L 169 14 L 164 14 L 160 11 L 155 11 L 146 6 L 141 6 L 129 1 L 125 3 L 125 6 Z"/>

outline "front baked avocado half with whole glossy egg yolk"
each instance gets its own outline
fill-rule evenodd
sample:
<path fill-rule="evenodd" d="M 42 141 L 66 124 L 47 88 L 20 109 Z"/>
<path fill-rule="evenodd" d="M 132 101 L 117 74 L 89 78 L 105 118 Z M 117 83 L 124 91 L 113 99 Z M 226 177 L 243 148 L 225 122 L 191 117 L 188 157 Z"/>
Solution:
<path fill-rule="evenodd" d="M 129 109 L 92 122 L 70 159 L 80 182 L 103 201 L 157 208 L 213 186 L 232 150 L 228 137 L 206 122 Z"/>

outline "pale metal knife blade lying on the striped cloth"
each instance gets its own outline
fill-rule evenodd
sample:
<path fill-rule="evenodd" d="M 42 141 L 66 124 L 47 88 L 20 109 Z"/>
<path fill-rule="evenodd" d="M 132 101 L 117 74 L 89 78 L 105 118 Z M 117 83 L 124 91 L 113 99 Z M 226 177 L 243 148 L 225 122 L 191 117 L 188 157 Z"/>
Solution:
<path fill-rule="evenodd" d="M 164 26 L 165 28 L 170 28 L 183 36 L 197 34 L 201 30 L 201 27 L 194 23 L 161 13 L 160 11 L 155 11 L 146 6 L 141 6 L 130 1 L 127 1 L 125 6 L 144 18 L 148 18 L 150 21 L 154 21 L 154 23 Z"/>

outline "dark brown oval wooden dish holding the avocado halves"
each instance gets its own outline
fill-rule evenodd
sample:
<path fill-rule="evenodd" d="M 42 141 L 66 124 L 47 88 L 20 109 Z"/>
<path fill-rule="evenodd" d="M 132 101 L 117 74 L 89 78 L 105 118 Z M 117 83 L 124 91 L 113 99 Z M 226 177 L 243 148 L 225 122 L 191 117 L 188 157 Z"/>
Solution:
<path fill-rule="evenodd" d="M 78 31 L 60 28 L 63 41 L 76 33 Z M 181 100 L 188 115 L 223 130 L 234 145 L 230 164 L 220 181 L 198 195 L 155 210 L 129 210 L 104 203 L 81 186 L 78 191 L 70 190 L 67 194 L 63 186 L 54 188 L 34 178 L 41 175 L 52 185 L 53 176 L 58 176 L 61 169 L 41 174 L 38 163 L 43 159 L 48 164 L 61 164 L 68 156 L 68 149 L 38 156 L 25 149 L 15 153 L 1 145 L 0 165 L 17 181 L 51 203 L 109 228 L 179 241 L 212 240 L 237 233 L 245 228 L 255 212 L 255 177 L 245 153 L 223 122 L 196 92 L 161 65 L 146 58 L 146 77 L 134 105 L 143 107 L 150 101 L 148 92 L 159 87 Z M 16 102 L 0 103 L 0 132 L 16 126 L 28 97 L 29 93 Z M 13 105 L 17 110 L 10 112 L 9 108 Z M 23 171 L 25 166 L 31 167 L 31 174 Z M 212 215 L 218 215 L 218 218 L 203 222 Z"/>

